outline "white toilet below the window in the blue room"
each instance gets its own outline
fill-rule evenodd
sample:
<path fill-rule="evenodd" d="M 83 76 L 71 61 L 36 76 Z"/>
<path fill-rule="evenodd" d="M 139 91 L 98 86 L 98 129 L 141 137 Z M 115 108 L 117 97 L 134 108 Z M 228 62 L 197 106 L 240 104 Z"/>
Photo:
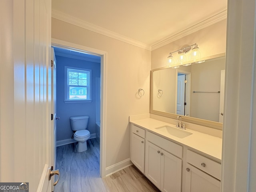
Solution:
<path fill-rule="evenodd" d="M 72 116 L 70 117 L 71 129 L 75 131 L 74 140 L 78 141 L 76 145 L 77 152 L 87 150 L 87 140 L 90 138 L 90 132 L 87 129 L 89 116 Z"/>

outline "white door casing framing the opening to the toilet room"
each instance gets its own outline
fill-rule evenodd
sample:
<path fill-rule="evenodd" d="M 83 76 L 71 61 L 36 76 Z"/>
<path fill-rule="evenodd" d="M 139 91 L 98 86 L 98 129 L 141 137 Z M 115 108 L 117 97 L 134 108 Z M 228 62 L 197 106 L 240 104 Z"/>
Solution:
<path fill-rule="evenodd" d="M 96 80 L 98 85 L 100 85 L 100 90 L 98 91 L 100 93 L 100 104 L 99 106 L 99 112 L 100 117 L 98 118 L 100 121 L 100 128 L 99 128 L 99 135 L 100 135 L 100 177 L 104 177 L 105 170 L 106 170 L 106 156 L 105 156 L 105 148 L 103 146 L 106 146 L 106 132 L 105 132 L 105 125 L 106 125 L 106 52 L 101 50 L 96 50 L 93 48 L 89 48 L 86 46 L 81 46 L 78 44 L 73 44 L 70 42 L 65 42 L 57 39 L 52 39 L 52 46 L 56 48 L 61 48 L 64 50 L 74 51 L 78 52 L 80 54 L 87 54 L 92 56 L 98 56 L 100 57 L 100 77 Z M 57 60 L 58 62 L 58 60 Z M 58 69 L 57 69 L 58 70 Z M 57 111 L 58 113 L 58 111 Z M 61 116 L 60 116 L 61 118 Z M 96 135 L 96 134 L 95 134 Z"/>

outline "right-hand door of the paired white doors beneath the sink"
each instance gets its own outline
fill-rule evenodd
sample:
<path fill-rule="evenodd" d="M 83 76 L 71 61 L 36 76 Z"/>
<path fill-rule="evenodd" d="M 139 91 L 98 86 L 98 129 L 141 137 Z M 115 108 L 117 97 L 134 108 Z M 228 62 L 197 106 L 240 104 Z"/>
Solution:
<path fill-rule="evenodd" d="M 180 192 L 182 160 L 161 150 L 161 185 L 163 192 Z"/>

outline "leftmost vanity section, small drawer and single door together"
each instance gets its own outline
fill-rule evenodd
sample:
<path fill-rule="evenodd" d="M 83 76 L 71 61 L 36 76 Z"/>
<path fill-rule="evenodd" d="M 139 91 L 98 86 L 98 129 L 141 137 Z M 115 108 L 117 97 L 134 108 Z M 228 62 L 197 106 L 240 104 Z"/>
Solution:
<path fill-rule="evenodd" d="M 130 150 L 130 160 L 142 173 L 144 173 L 145 130 L 134 124 L 131 124 Z"/>

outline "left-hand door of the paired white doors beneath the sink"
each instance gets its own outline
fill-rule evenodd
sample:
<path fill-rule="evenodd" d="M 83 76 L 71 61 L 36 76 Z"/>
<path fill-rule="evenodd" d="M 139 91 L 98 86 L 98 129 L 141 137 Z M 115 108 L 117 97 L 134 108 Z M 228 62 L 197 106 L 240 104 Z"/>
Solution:
<path fill-rule="evenodd" d="M 146 160 L 145 173 L 147 178 L 158 188 L 160 188 L 160 164 L 161 164 L 161 148 L 146 142 Z"/>

